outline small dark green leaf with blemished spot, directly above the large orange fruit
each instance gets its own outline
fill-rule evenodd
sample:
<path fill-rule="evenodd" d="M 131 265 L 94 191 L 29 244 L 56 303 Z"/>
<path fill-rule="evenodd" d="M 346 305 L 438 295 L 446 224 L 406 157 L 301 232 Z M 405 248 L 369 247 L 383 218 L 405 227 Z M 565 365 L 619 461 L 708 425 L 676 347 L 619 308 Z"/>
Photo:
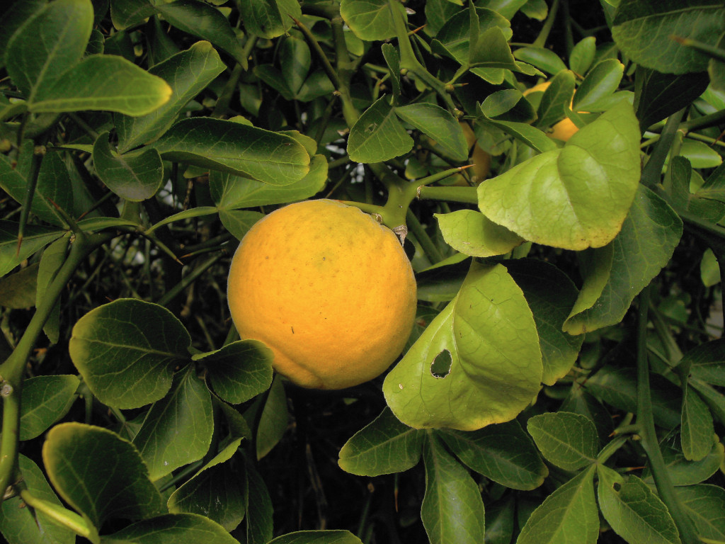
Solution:
<path fill-rule="evenodd" d="M 399 157 L 412 148 L 413 139 L 385 96 L 360 115 L 347 139 L 347 154 L 355 162 L 382 162 Z"/>

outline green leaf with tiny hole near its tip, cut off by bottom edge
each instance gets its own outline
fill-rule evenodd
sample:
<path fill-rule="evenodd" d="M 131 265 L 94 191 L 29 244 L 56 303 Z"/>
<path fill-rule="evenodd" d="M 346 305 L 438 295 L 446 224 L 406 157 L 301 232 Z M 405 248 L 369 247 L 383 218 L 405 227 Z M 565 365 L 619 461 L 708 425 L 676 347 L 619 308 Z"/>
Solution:
<path fill-rule="evenodd" d="M 679 544 L 677 527 L 667 507 L 636 476 L 625 479 L 606 466 L 597 466 L 597 495 L 605 519 L 628 542 Z"/>

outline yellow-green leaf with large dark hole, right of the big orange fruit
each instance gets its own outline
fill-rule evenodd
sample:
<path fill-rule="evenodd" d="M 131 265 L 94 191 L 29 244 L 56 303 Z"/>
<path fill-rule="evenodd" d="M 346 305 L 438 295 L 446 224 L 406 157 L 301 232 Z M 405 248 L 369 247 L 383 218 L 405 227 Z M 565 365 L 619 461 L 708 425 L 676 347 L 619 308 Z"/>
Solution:
<path fill-rule="evenodd" d="M 450 363 L 447 373 L 434 374 L 436 361 Z M 502 265 L 474 264 L 455 300 L 386 376 L 383 392 L 409 426 L 473 430 L 513 419 L 537 394 L 541 376 L 521 289 Z"/>

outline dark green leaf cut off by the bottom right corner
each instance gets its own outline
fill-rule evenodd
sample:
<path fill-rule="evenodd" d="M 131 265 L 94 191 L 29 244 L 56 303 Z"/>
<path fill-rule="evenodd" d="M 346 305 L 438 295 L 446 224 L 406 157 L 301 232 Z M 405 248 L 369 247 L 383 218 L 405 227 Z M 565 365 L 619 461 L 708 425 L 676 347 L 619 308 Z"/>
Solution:
<path fill-rule="evenodd" d="M 725 490 L 717 485 L 677 487 L 677 496 L 700 538 L 725 541 Z"/>

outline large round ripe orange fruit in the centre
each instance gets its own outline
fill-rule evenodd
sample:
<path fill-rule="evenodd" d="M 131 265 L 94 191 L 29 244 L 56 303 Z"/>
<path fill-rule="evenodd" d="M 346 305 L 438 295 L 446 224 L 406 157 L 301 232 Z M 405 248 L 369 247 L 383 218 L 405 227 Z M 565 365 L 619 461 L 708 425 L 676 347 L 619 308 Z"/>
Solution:
<path fill-rule="evenodd" d="M 280 374 L 314 389 L 382 374 L 405 347 L 417 304 L 413 268 L 393 231 L 327 199 L 254 224 L 227 287 L 241 338 L 265 342 Z"/>

